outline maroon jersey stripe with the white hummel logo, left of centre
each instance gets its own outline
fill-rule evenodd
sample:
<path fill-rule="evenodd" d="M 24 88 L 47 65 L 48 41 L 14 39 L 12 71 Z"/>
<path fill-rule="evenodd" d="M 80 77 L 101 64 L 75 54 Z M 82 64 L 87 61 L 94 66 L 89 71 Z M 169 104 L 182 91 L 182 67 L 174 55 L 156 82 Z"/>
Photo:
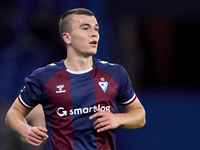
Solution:
<path fill-rule="evenodd" d="M 51 104 L 51 115 L 49 120 L 48 118 L 46 120 L 52 124 L 54 150 L 66 149 L 66 147 L 74 149 L 72 116 L 66 112 L 72 109 L 69 78 L 66 70 L 60 70 L 50 78 L 45 87 Z"/>

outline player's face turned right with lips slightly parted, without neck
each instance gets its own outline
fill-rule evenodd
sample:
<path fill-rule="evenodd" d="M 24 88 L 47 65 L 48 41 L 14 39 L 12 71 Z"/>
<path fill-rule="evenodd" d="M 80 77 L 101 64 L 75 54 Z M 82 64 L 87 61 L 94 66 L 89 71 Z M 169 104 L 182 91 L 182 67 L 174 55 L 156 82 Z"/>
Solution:
<path fill-rule="evenodd" d="M 97 52 L 99 41 L 99 25 L 94 16 L 73 15 L 73 23 L 67 36 L 68 48 L 76 55 L 89 57 Z"/>

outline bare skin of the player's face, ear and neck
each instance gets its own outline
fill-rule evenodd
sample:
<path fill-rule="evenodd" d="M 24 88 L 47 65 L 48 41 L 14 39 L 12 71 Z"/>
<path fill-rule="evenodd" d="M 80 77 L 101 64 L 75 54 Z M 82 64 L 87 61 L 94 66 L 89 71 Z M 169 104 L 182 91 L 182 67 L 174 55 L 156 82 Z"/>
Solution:
<path fill-rule="evenodd" d="M 99 25 L 94 16 L 73 15 L 73 18 L 72 31 L 63 33 L 68 56 L 65 65 L 71 71 L 83 71 L 92 66 L 92 56 L 97 53 Z"/>

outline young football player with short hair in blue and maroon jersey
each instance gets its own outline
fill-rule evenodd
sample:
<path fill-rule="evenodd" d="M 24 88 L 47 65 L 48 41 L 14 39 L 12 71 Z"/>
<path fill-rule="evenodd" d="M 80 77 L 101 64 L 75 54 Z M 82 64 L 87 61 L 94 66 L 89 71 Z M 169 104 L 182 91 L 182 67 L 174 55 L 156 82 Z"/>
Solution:
<path fill-rule="evenodd" d="M 48 150 L 113 150 L 115 129 L 145 124 L 145 110 L 127 72 L 92 56 L 99 25 L 83 8 L 69 10 L 59 22 L 67 58 L 35 70 L 6 116 L 6 123 L 34 146 L 47 139 Z M 42 104 L 46 128 L 32 127 L 25 116 Z M 117 113 L 117 103 L 124 113 Z"/>

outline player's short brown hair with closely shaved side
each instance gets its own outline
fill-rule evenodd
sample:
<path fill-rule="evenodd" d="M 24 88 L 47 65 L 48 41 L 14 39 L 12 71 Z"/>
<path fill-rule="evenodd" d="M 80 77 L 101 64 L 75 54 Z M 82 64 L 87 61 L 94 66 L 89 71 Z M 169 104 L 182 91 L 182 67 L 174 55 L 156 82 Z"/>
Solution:
<path fill-rule="evenodd" d="M 61 39 L 62 39 L 63 32 L 71 31 L 72 18 L 70 16 L 72 14 L 94 16 L 94 13 L 92 11 L 85 8 L 75 8 L 75 9 L 66 11 L 61 16 L 60 21 L 59 21 L 59 33 L 60 33 Z"/>

